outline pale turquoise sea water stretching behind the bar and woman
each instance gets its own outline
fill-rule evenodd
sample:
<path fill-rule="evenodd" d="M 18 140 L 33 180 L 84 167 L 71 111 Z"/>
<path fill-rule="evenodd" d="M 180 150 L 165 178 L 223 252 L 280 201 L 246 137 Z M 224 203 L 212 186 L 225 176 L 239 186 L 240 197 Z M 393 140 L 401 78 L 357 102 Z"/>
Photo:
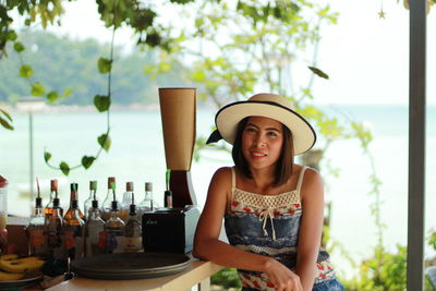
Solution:
<path fill-rule="evenodd" d="M 408 108 L 405 106 L 325 106 L 326 111 L 344 120 L 358 120 L 372 129 L 374 140 L 370 146 L 375 168 L 383 184 L 382 220 L 384 243 L 395 250 L 396 244 L 407 244 L 408 220 Z M 436 215 L 432 205 L 436 205 L 436 186 L 432 181 L 436 175 L 436 108 L 427 112 L 426 138 L 426 229 L 436 228 Z M 28 114 L 13 113 L 15 131 L 0 129 L 0 174 L 10 181 L 9 213 L 29 215 L 29 143 Z M 116 111 L 111 113 L 112 145 L 109 153 L 88 170 L 74 170 L 69 177 L 48 168 L 44 162 L 44 149 L 52 154 L 52 161 L 59 165 L 64 160 L 70 166 L 80 162 L 83 155 L 95 155 L 98 150 L 96 137 L 106 129 L 106 116 L 96 112 L 39 112 L 34 113 L 34 172 L 41 185 L 44 204 L 47 203 L 49 180 L 60 182 L 60 198 L 68 207 L 69 183 L 77 182 L 83 202 L 88 195 L 88 181 L 98 181 L 98 195 L 106 195 L 107 177 L 117 178 L 118 197 L 121 198 L 125 182 L 135 184 L 136 199 L 144 195 L 144 183 L 154 183 L 154 198 L 162 205 L 165 190 L 165 150 L 160 113 L 148 111 Z M 197 135 L 206 136 L 214 124 L 214 113 L 207 110 L 197 112 Z M 319 141 L 323 144 L 323 141 Z M 358 141 L 339 140 L 327 151 L 327 160 L 322 163 L 322 173 L 326 183 L 326 201 L 331 202 L 331 238 L 339 242 L 349 255 L 362 259 L 372 254 L 376 244 L 376 228 L 371 215 L 370 204 L 374 196 L 368 182 L 370 161 L 362 154 Z M 226 153 L 205 151 L 198 162 L 193 161 L 192 181 L 198 201 L 204 205 L 208 182 L 215 170 L 231 165 Z M 328 174 L 327 169 L 335 168 L 339 177 Z M 429 250 L 427 255 L 432 256 Z M 343 276 L 355 270 L 339 250 L 332 253 L 332 262 Z"/>

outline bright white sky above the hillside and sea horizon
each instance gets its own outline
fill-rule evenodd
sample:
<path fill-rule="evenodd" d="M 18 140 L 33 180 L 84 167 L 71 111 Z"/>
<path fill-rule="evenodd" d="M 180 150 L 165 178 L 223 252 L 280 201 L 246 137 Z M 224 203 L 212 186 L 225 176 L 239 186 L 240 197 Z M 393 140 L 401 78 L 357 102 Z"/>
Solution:
<path fill-rule="evenodd" d="M 319 104 L 408 104 L 409 11 L 402 0 L 328 0 L 339 12 L 337 25 L 322 28 L 318 68 L 328 81 L 317 78 L 315 99 Z M 385 19 L 378 12 L 383 5 Z M 434 78 L 436 7 L 427 17 L 427 102 L 436 104 Z M 65 3 L 62 26 L 50 28 L 73 38 L 97 38 L 109 43 L 111 32 L 100 22 L 95 1 Z M 129 29 L 117 33 L 116 43 L 133 46 Z M 432 68 L 433 65 L 433 68 Z"/>

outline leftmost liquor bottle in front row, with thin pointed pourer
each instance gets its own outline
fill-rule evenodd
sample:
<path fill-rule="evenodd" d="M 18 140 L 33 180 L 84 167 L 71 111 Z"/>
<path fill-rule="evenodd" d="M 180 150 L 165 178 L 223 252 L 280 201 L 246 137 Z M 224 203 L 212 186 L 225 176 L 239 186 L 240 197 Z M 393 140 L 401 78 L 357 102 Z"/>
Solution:
<path fill-rule="evenodd" d="M 35 211 L 31 216 L 31 220 L 27 227 L 28 244 L 32 256 L 45 257 L 47 255 L 45 230 L 46 218 L 43 209 L 43 198 L 40 197 L 38 184 L 38 196 L 36 197 Z"/>

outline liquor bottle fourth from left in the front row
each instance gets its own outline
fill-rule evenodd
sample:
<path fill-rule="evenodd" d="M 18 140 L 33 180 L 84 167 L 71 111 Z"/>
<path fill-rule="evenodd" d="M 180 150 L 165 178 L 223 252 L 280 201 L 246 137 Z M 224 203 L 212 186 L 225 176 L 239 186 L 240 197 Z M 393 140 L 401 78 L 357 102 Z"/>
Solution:
<path fill-rule="evenodd" d="M 105 221 L 100 217 L 98 201 L 94 193 L 92 206 L 88 209 L 88 219 L 85 226 L 86 257 L 105 253 Z"/>

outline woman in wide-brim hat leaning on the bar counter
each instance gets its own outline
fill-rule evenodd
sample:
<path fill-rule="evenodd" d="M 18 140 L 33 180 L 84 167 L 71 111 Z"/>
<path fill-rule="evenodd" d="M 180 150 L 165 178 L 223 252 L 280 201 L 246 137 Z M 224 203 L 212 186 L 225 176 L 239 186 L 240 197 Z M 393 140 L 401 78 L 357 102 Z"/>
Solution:
<path fill-rule="evenodd" d="M 324 186 L 293 156 L 315 144 L 312 126 L 274 94 L 230 104 L 209 142 L 233 144 L 235 167 L 214 174 L 194 256 L 238 268 L 244 291 L 343 290 L 320 248 Z M 218 240 L 222 218 L 229 244 Z"/>

